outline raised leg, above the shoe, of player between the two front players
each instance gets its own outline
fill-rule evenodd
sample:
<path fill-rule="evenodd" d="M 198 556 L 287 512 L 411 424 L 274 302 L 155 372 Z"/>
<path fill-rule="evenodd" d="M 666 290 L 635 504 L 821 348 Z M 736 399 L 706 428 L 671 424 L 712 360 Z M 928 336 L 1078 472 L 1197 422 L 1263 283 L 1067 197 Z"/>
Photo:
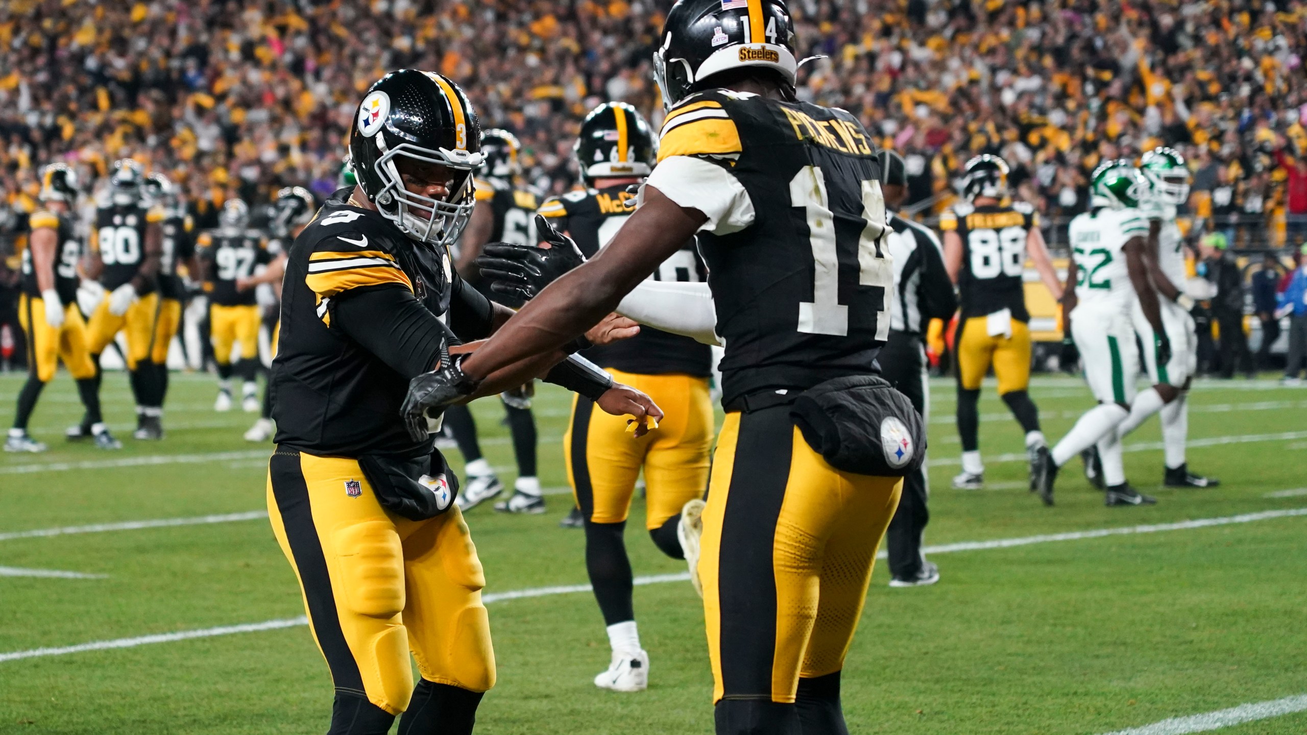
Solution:
<path fill-rule="evenodd" d="M 640 390 L 667 412 L 652 432 L 644 456 L 644 526 L 663 553 L 685 558 L 677 534 L 681 509 L 702 498 L 708 488 L 714 428 L 708 381 L 680 374 L 646 375 Z"/>

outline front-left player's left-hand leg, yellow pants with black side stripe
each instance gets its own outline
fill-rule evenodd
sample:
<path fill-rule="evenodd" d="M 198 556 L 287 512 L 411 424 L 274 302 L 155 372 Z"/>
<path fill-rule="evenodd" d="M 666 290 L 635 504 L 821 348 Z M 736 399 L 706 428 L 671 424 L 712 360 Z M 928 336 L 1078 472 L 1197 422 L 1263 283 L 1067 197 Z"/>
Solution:
<path fill-rule="evenodd" d="M 395 523 L 358 462 L 286 450 L 269 460 L 268 513 L 331 668 L 336 708 L 329 732 L 388 732 L 413 693 L 401 623 L 404 548 Z"/>

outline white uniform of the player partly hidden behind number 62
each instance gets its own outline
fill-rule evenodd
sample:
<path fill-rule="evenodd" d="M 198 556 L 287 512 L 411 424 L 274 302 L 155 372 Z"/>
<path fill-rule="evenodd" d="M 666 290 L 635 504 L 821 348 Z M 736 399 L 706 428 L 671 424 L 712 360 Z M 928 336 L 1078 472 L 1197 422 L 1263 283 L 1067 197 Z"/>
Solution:
<path fill-rule="evenodd" d="M 1162 230 L 1158 233 L 1158 265 L 1171 284 L 1184 290 L 1187 273 L 1184 268 L 1184 241 L 1180 237 L 1180 228 L 1175 224 L 1174 204 L 1150 204 L 1142 208 L 1144 216 L 1151 220 L 1162 220 Z M 1162 311 L 1162 327 L 1167 339 L 1171 340 L 1171 360 L 1163 365 L 1157 362 L 1157 340 L 1153 335 L 1153 326 L 1144 316 L 1144 309 L 1136 296 L 1131 305 L 1131 322 L 1144 343 L 1144 366 L 1148 370 L 1149 381 L 1153 385 L 1168 383 L 1183 387 L 1189 375 L 1193 375 L 1199 366 L 1199 336 L 1193 324 L 1193 316 L 1188 311 L 1168 298 L 1159 297 L 1158 306 Z"/>

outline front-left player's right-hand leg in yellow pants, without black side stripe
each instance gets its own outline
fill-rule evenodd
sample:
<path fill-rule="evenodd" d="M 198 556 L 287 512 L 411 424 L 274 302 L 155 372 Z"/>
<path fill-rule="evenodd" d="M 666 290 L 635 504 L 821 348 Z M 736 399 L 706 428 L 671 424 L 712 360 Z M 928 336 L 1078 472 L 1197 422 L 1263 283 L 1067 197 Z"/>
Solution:
<path fill-rule="evenodd" d="M 477 548 L 456 506 L 427 521 L 400 522 L 399 532 L 404 626 L 421 675 L 399 731 L 469 734 L 481 694 L 495 683 Z"/>

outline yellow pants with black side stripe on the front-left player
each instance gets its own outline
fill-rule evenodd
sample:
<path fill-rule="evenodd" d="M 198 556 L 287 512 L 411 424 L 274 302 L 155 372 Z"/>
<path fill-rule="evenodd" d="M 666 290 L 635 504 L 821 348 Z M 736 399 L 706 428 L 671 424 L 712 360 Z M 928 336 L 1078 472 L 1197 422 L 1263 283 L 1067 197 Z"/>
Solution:
<path fill-rule="evenodd" d="M 427 521 L 392 515 L 357 460 L 278 447 L 268 514 L 337 692 L 404 711 L 410 651 L 429 681 L 494 687 L 485 574 L 457 506 Z"/>

